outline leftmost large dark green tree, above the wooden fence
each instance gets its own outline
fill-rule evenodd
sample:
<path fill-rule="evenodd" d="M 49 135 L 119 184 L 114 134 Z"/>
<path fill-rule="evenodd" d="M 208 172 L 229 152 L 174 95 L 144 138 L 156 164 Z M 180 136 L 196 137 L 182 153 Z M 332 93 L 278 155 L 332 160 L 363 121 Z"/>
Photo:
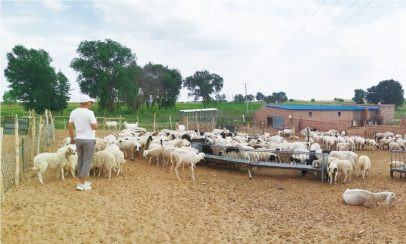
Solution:
<path fill-rule="evenodd" d="M 55 73 L 51 67 L 52 59 L 45 50 L 17 45 L 11 53 L 7 53 L 7 59 L 4 75 L 25 109 L 35 109 L 42 113 L 45 109 L 56 111 L 66 107 L 69 82 L 66 77 L 66 80 L 61 80 L 61 72 Z"/>

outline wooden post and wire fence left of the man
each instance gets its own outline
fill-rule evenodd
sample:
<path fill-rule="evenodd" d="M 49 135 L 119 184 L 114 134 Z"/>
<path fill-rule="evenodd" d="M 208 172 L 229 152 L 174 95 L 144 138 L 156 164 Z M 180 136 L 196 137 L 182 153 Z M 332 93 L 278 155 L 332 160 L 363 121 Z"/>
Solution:
<path fill-rule="evenodd" d="M 24 172 L 32 168 L 35 155 L 55 142 L 54 118 L 48 110 L 44 115 L 30 111 L 27 117 L 2 117 L 0 136 L 3 196 L 12 186 L 20 184 Z"/>

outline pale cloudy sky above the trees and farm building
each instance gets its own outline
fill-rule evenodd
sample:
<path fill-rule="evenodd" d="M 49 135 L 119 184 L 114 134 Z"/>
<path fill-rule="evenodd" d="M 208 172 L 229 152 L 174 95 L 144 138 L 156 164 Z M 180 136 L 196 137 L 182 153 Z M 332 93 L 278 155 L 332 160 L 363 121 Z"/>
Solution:
<path fill-rule="evenodd" d="M 238 93 L 283 91 L 288 98 L 351 99 L 394 79 L 406 85 L 406 0 L 1 1 L 0 96 L 7 52 L 44 49 L 56 71 L 80 90 L 70 68 L 84 40 L 112 39 L 140 66 L 208 70 L 223 77 L 228 100 Z M 179 101 L 192 101 L 182 90 Z"/>

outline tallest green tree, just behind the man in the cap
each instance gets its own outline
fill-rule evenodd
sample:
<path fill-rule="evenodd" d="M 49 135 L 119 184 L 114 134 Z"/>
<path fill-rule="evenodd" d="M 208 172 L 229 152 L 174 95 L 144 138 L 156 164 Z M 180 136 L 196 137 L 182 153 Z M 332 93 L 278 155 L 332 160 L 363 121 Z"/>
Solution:
<path fill-rule="evenodd" d="M 139 67 L 131 49 L 106 39 L 82 41 L 76 52 L 79 57 L 72 60 L 71 67 L 79 72 L 80 90 L 97 98 L 101 108 L 111 112 L 118 102 L 138 99 Z"/>

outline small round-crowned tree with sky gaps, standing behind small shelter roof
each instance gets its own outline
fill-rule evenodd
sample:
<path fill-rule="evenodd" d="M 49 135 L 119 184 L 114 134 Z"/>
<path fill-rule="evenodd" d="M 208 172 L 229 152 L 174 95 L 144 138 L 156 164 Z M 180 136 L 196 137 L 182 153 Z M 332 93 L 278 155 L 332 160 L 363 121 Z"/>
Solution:
<path fill-rule="evenodd" d="M 196 71 L 193 76 L 187 77 L 183 87 L 190 91 L 188 96 L 194 96 L 195 100 L 200 97 L 206 106 L 212 100 L 211 94 L 219 93 L 223 88 L 223 78 L 217 74 L 210 74 L 207 70 Z"/>

